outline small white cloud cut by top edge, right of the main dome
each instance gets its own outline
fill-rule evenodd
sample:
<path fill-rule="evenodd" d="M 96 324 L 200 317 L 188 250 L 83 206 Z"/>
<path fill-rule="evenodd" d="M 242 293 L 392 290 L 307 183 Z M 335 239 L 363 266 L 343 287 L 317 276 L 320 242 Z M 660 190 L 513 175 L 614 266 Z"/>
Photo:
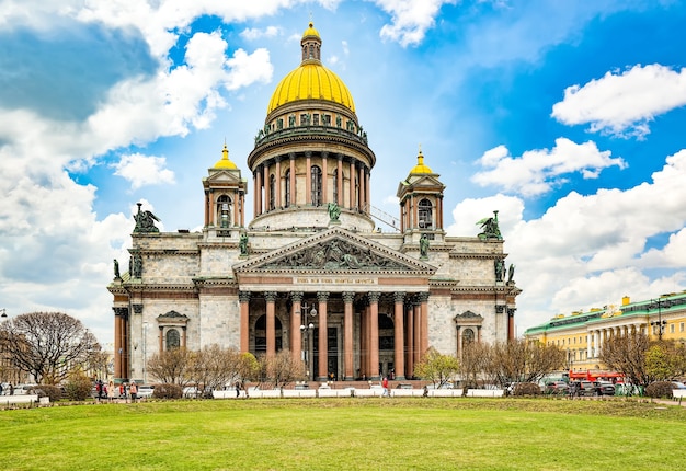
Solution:
<path fill-rule="evenodd" d="M 391 15 L 391 24 L 381 27 L 381 38 L 397 41 L 405 47 L 421 43 L 441 7 L 455 4 L 456 0 L 376 0 L 375 3 Z"/>

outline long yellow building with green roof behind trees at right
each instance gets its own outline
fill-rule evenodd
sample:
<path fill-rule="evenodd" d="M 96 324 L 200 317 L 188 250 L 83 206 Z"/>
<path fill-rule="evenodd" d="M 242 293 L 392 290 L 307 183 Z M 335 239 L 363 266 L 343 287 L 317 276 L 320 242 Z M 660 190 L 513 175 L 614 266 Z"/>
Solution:
<path fill-rule="evenodd" d="M 686 290 L 638 302 L 625 296 L 620 306 L 556 315 L 545 324 L 527 329 L 524 336 L 558 345 L 568 352 L 570 370 L 587 371 L 606 369 L 598 358 L 605 338 L 630 332 L 686 342 Z"/>

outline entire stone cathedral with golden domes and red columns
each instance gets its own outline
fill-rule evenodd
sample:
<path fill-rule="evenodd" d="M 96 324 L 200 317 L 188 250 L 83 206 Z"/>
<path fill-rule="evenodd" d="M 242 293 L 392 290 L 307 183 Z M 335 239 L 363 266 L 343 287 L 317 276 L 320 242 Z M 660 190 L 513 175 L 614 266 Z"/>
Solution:
<path fill-rule="evenodd" d="M 321 64 L 312 23 L 300 45 L 248 156 L 252 221 L 226 145 L 202 180 L 202 232 L 159 232 L 139 205 L 128 271 L 115 261 L 107 287 L 116 378 L 146 381 L 153 354 L 218 344 L 289 352 L 313 380 L 405 379 L 430 347 L 459 357 L 469 342 L 514 337 L 521 289 L 498 211 L 481 233 L 447 237 L 446 186 L 420 151 L 398 184 L 398 218 L 378 212 L 353 96 Z"/>

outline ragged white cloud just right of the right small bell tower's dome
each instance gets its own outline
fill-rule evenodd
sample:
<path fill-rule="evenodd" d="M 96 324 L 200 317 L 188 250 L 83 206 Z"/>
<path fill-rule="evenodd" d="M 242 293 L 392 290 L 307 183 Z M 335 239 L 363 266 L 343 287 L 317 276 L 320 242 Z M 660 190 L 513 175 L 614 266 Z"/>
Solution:
<path fill-rule="evenodd" d="M 535 196 L 567 182 L 564 175 L 580 172 L 584 179 L 596 179 L 601 170 L 626 163 L 610 158 L 610 151 L 599 151 L 595 142 L 575 143 L 565 138 L 556 139 L 551 150 L 537 149 L 512 157 L 505 146 L 499 146 L 478 160 L 491 170 L 476 173 L 471 181 L 481 186 L 496 185 L 523 196 Z"/>

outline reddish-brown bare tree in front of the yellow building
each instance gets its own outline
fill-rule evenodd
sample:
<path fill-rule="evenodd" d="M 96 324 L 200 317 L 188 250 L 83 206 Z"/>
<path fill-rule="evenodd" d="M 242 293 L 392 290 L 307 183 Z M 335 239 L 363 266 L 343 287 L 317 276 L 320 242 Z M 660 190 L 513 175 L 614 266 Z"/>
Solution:
<path fill-rule="evenodd" d="M 629 378 L 633 384 L 648 386 L 654 381 L 654 376 L 645 368 L 649 346 L 648 336 L 640 332 L 614 335 L 603 342 L 598 358 L 608 368 Z"/>

